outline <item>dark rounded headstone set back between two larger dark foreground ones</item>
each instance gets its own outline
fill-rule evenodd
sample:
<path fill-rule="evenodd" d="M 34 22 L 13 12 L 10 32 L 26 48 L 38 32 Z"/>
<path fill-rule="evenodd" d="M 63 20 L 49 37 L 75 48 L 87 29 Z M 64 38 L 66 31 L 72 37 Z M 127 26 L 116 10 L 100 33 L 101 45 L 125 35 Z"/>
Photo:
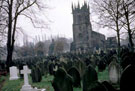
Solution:
<path fill-rule="evenodd" d="M 73 78 L 73 86 L 74 87 L 80 87 L 81 86 L 81 78 L 80 73 L 75 67 L 71 67 L 68 70 L 68 74 Z"/>

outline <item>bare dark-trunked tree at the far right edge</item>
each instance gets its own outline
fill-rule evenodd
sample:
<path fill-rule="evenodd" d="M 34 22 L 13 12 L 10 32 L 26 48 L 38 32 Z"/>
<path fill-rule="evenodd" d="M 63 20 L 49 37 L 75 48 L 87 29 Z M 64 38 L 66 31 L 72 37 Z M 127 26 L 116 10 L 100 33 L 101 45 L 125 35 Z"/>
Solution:
<path fill-rule="evenodd" d="M 135 0 L 122 0 L 121 14 L 123 18 L 121 22 L 125 24 L 128 32 L 128 40 L 131 51 L 134 51 L 133 35 L 135 31 Z"/>

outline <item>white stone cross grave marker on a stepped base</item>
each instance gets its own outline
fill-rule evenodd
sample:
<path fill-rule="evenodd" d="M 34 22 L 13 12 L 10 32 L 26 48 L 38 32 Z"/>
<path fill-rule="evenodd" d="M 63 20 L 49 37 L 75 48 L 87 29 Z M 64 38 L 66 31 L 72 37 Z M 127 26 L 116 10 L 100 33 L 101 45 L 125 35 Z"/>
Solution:
<path fill-rule="evenodd" d="M 29 84 L 29 80 L 28 80 L 28 74 L 31 73 L 31 70 L 28 69 L 27 66 L 23 66 L 23 70 L 21 70 L 21 74 L 24 74 L 24 85 L 21 88 L 21 91 L 32 91 L 33 88 L 31 87 L 31 85 Z"/>

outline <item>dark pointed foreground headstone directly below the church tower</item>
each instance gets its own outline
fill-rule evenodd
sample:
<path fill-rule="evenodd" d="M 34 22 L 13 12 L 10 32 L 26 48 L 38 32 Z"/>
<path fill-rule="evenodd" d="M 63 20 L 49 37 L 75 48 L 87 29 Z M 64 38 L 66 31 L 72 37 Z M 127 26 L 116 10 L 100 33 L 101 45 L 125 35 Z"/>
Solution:
<path fill-rule="evenodd" d="M 89 65 L 83 76 L 83 91 L 91 91 L 91 89 L 94 87 L 93 83 L 97 80 L 97 72 L 91 65 Z"/>

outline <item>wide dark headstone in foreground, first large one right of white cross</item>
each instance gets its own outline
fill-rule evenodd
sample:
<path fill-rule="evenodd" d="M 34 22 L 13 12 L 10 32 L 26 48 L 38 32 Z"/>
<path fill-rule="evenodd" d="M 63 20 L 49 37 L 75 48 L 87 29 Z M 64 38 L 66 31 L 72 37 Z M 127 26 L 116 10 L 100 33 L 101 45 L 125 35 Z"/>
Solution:
<path fill-rule="evenodd" d="M 73 91 L 72 78 L 62 68 L 57 70 L 52 86 L 54 91 Z"/>

